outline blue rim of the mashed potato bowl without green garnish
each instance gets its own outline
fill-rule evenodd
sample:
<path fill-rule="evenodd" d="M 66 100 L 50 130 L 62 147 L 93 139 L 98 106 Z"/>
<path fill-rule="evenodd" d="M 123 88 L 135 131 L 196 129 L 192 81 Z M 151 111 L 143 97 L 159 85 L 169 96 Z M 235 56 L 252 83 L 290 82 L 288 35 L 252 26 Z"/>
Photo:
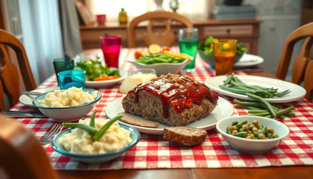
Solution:
<path fill-rule="evenodd" d="M 68 88 L 67 88 L 67 89 L 68 89 Z M 64 91 L 64 90 L 67 90 L 67 89 L 63 89 L 63 90 L 61 90 L 61 91 Z M 54 90 L 54 91 L 55 91 L 55 90 Z M 54 91 L 49 91 L 49 92 L 54 92 Z M 43 94 L 41 94 L 41 95 L 39 95 L 39 96 L 37 96 L 37 97 L 35 97 L 35 98 L 33 99 L 33 105 L 34 105 L 36 108 L 42 108 L 42 109 L 71 109 L 71 108 L 79 108 L 79 107 L 83 107 L 83 106 L 88 106 L 88 105 L 90 105 L 90 104 L 94 104 L 94 103 L 98 102 L 98 101 L 102 98 L 102 94 L 101 94 L 99 91 L 97 91 L 97 90 L 89 89 L 89 88 L 84 88 L 83 91 L 84 91 L 84 92 L 88 91 L 88 92 L 90 92 L 90 94 L 91 94 L 91 92 L 96 91 L 96 92 L 97 92 L 97 97 L 95 98 L 94 101 L 92 101 L 92 102 L 90 102 L 90 103 L 81 104 L 81 105 L 78 105 L 78 106 L 69 106 L 69 107 L 53 108 L 53 107 L 44 107 L 44 106 L 41 106 L 41 105 L 38 103 L 39 98 L 41 98 L 42 96 L 46 96 L 47 93 L 49 93 L 49 92 L 45 92 L 45 93 L 43 93 Z"/>

